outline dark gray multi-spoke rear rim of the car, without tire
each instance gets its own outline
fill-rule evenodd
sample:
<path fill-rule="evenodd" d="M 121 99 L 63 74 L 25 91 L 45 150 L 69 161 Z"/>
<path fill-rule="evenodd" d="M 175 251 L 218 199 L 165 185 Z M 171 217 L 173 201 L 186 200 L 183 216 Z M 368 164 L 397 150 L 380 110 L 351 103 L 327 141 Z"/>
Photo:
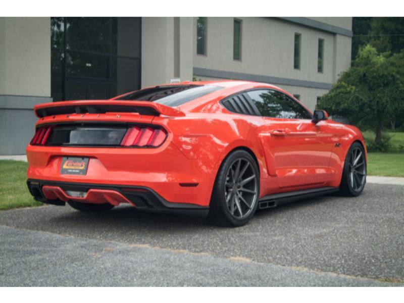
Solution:
<path fill-rule="evenodd" d="M 230 215 L 244 219 L 257 204 L 258 176 L 251 163 L 245 158 L 235 160 L 226 174 L 225 198 Z"/>

